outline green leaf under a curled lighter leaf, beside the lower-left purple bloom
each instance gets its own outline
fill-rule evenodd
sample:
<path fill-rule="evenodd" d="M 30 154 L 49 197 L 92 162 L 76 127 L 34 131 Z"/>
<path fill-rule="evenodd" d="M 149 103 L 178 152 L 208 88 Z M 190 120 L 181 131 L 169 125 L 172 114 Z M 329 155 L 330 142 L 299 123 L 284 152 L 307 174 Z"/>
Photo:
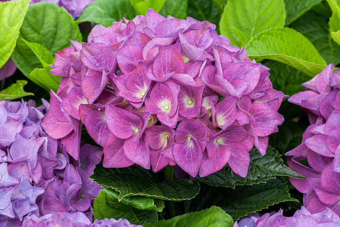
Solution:
<path fill-rule="evenodd" d="M 103 220 L 104 218 L 128 219 L 131 224 L 141 225 L 149 222 L 155 223 L 158 220 L 158 214 L 155 210 L 138 210 L 131 206 L 125 205 L 108 193 L 108 188 L 101 190 L 93 203 L 93 214 L 95 219 Z"/>

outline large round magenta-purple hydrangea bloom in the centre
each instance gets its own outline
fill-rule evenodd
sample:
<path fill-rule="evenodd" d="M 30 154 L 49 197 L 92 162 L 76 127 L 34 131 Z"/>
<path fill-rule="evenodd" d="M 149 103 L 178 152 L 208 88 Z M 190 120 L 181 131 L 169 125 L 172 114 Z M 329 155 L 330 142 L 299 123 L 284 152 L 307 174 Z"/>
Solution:
<path fill-rule="evenodd" d="M 268 67 L 215 29 L 152 9 L 96 25 L 87 43 L 56 53 L 50 72 L 63 78 L 44 129 L 76 158 L 69 141 L 79 141 L 83 123 L 104 148 L 105 167 L 178 164 L 204 177 L 228 163 L 245 177 L 250 149 L 264 155 L 284 120 L 285 95 L 272 88 Z"/>

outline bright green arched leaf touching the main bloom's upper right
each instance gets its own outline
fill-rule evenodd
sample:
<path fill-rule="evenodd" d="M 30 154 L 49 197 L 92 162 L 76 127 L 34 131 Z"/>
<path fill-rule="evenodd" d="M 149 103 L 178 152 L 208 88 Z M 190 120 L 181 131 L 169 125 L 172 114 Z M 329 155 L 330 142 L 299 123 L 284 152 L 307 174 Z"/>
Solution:
<path fill-rule="evenodd" d="M 326 66 L 313 44 L 291 28 L 272 28 L 255 35 L 246 45 L 251 58 L 266 58 L 283 62 L 315 76 Z"/>

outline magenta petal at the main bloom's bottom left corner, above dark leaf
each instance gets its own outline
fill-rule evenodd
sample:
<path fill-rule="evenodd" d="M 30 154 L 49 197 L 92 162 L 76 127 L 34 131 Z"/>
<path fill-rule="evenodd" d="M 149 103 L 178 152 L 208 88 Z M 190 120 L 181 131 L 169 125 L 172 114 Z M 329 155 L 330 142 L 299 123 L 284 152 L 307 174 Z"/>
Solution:
<path fill-rule="evenodd" d="M 125 140 L 120 139 L 110 133 L 107 136 L 104 147 L 104 161 L 103 166 L 106 168 L 122 168 L 133 164 L 129 158 L 124 154 Z"/>

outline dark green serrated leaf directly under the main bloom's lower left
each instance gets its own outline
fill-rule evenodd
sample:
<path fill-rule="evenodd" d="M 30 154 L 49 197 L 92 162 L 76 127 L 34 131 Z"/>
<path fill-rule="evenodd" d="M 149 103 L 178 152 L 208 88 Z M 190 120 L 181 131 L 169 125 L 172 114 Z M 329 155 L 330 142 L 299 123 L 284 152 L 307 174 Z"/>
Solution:
<path fill-rule="evenodd" d="M 119 192 L 118 200 L 125 196 L 142 195 L 149 198 L 183 201 L 192 199 L 200 191 L 197 181 L 177 178 L 160 182 L 150 170 L 133 165 L 126 168 L 104 168 L 96 165 L 91 176 L 98 184 Z"/>

